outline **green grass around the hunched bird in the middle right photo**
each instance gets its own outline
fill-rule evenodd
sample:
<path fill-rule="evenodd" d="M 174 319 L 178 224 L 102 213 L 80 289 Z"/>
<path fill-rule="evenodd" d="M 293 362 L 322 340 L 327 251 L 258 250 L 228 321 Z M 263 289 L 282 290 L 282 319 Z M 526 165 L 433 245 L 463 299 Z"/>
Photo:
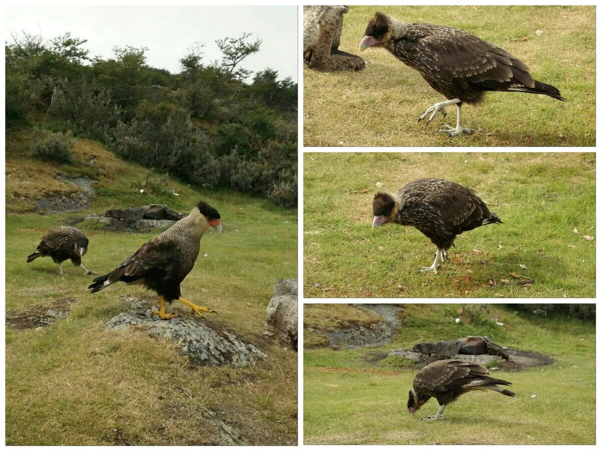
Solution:
<path fill-rule="evenodd" d="M 305 153 L 304 295 L 593 297 L 594 171 L 593 153 Z M 504 222 L 459 235 L 438 275 L 417 271 L 435 253 L 418 230 L 371 231 L 374 194 L 422 177 L 470 186 Z"/>

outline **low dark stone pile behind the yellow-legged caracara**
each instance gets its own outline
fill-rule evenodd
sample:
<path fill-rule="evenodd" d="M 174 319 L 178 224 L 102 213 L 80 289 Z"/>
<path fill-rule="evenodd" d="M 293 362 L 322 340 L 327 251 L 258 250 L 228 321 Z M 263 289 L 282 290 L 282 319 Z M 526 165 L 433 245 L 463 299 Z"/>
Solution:
<path fill-rule="evenodd" d="M 144 207 L 107 210 L 104 215 L 89 215 L 87 221 L 97 222 L 110 232 L 147 232 L 166 229 L 185 215 L 171 210 L 166 205 L 151 204 Z"/>

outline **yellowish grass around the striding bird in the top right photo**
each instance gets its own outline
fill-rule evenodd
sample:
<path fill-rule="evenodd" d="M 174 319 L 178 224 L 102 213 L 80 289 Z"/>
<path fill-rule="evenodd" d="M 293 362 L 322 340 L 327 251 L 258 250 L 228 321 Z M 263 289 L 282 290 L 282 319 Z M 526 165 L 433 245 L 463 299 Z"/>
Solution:
<path fill-rule="evenodd" d="M 416 120 L 445 100 L 416 70 L 383 50 L 368 49 L 359 72 L 304 72 L 305 146 L 594 146 L 595 8 L 522 6 L 351 6 L 340 49 L 359 54 L 376 11 L 404 22 L 456 26 L 520 58 L 539 81 L 556 86 L 566 102 L 547 96 L 489 93 L 463 108 L 474 135 L 437 133 L 455 124 L 456 108 L 433 123 Z M 537 34 L 537 31 L 542 33 Z"/>

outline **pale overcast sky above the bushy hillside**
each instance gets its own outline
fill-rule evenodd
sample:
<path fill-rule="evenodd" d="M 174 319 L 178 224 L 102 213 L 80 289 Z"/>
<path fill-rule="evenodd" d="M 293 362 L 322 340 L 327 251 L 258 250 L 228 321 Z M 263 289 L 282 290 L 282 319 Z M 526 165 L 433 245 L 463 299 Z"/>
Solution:
<path fill-rule="evenodd" d="M 298 81 L 296 6 L 60 6 L 8 7 L 7 36 L 22 30 L 52 38 L 70 31 L 87 39 L 90 57 L 112 56 L 113 46 L 145 46 L 148 64 L 180 72 L 178 60 L 196 41 L 206 43 L 204 61 L 221 60 L 215 40 L 251 32 L 261 50 L 243 61 L 254 72 L 270 67 Z M 252 79 L 252 76 L 251 78 Z"/>

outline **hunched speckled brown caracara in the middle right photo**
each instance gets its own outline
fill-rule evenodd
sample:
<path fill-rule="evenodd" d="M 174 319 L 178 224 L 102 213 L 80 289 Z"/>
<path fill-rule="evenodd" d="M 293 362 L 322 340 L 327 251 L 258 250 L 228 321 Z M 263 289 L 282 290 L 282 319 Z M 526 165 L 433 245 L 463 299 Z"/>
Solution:
<path fill-rule="evenodd" d="M 448 249 L 457 235 L 501 219 L 489 212 L 486 203 L 466 186 L 442 179 L 419 179 L 407 183 L 395 194 L 379 192 L 373 201 L 372 229 L 382 224 L 412 225 L 436 246 L 432 266 L 436 271 L 448 259 Z"/>

